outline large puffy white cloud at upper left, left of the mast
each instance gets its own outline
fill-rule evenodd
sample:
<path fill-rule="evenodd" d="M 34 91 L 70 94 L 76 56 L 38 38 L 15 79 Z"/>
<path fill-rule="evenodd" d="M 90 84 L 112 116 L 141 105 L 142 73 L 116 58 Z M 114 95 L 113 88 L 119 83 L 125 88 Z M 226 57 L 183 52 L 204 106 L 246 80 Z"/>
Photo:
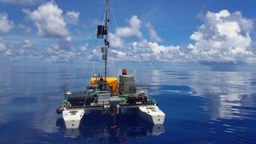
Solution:
<path fill-rule="evenodd" d="M 23 10 L 38 28 L 38 35 L 71 39 L 67 24 L 62 17 L 62 10 L 53 3 L 44 3 L 34 11 Z"/>

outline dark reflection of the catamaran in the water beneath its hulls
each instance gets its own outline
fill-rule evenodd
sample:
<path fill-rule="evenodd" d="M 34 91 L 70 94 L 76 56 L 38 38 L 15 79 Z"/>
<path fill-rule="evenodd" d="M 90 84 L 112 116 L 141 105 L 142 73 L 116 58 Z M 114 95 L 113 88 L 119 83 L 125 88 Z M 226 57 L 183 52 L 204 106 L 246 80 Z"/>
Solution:
<path fill-rule="evenodd" d="M 63 118 L 56 120 L 56 125 L 64 132 L 66 138 L 96 140 L 107 143 L 124 143 L 129 140 L 143 140 L 148 136 L 165 133 L 163 124 L 150 124 L 142 118 L 132 115 L 105 116 L 86 115 L 79 129 L 66 129 Z"/>

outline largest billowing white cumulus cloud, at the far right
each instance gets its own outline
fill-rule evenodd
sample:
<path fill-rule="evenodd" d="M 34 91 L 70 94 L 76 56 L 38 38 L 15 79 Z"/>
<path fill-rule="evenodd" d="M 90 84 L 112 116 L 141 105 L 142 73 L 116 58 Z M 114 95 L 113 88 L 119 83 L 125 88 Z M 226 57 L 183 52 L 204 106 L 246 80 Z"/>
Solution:
<path fill-rule="evenodd" d="M 222 10 L 218 13 L 207 12 L 204 24 L 190 39 L 191 59 L 209 61 L 246 61 L 253 56 L 250 32 L 253 21 L 241 15 L 241 12 L 230 13 Z"/>

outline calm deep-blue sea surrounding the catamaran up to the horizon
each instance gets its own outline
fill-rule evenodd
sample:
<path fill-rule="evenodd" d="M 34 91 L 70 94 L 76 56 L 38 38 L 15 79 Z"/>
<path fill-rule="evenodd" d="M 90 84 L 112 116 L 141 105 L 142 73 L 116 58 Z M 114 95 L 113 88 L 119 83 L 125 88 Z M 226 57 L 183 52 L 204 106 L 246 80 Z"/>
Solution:
<path fill-rule="evenodd" d="M 200 64 L 110 64 L 122 67 L 166 113 L 164 125 L 124 116 L 84 118 L 80 130 L 66 130 L 62 88 L 83 90 L 93 65 L 1 64 L 0 143 L 239 143 L 256 141 L 256 66 Z M 96 66 L 96 72 L 102 69 Z"/>

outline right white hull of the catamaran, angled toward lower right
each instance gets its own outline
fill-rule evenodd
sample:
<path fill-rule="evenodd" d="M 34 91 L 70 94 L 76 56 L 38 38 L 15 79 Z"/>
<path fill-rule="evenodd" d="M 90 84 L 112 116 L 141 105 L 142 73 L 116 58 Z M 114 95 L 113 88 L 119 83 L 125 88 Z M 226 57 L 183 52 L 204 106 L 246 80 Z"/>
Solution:
<path fill-rule="evenodd" d="M 157 106 L 141 106 L 138 114 L 152 124 L 164 124 L 166 114 Z"/>

